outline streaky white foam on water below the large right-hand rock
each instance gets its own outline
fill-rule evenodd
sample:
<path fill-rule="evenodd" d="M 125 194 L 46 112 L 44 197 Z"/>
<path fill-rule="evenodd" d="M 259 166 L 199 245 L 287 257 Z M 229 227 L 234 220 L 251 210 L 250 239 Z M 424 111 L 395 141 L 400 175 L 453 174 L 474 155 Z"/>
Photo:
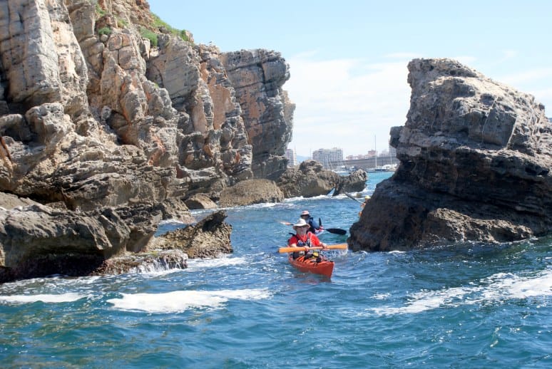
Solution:
<path fill-rule="evenodd" d="M 542 271 L 536 276 L 494 274 L 474 286 L 420 291 L 410 295 L 404 306 L 383 306 L 372 308 L 371 311 L 378 315 L 421 313 L 434 308 L 495 303 L 536 296 L 552 296 L 552 271 Z"/>

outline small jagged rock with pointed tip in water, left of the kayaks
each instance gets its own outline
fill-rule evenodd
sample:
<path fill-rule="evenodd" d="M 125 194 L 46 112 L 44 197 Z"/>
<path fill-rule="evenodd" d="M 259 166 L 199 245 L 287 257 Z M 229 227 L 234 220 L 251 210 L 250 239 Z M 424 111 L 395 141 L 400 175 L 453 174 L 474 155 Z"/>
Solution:
<path fill-rule="evenodd" d="M 230 233 L 232 226 L 224 222 L 223 210 L 210 214 L 193 226 L 167 232 L 148 246 L 148 249 L 180 249 L 190 259 L 214 258 L 220 254 L 231 253 Z"/>

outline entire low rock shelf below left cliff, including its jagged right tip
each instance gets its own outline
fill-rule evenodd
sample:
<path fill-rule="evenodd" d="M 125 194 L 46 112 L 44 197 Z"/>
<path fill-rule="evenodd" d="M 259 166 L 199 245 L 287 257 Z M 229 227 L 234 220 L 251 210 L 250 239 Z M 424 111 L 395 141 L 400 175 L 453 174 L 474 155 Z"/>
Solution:
<path fill-rule="evenodd" d="M 9 194 L 1 194 L 0 205 L 0 283 L 49 274 L 185 268 L 186 253 L 195 258 L 232 251 L 224 212 L 154 237 L 161 218 L 157 205 L 72 212 Z"/>

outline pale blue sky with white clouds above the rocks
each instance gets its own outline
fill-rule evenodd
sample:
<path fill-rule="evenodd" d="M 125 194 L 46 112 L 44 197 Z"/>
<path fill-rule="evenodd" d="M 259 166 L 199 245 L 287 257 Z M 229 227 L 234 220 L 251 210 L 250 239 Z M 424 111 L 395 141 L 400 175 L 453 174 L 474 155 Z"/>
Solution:
<path fill-rule="evenodd" d="M 382 152 L 409 110 L 409 61 L 452 58 L 516 90 L 552 116 L 552 1 L 149 0 L 195 43 L 265 48 L 290 65 L 297 155 L 340 147 Z"/>

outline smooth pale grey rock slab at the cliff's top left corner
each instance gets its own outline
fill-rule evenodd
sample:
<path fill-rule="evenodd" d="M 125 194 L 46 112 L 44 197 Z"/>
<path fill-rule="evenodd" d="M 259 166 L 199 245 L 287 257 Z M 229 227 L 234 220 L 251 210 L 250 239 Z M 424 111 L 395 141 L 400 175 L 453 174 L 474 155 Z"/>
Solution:
<path fill-rule="evenodd" d="M 0 6 L 2 75 L 14 113 L 42 103 L 63 103 L 67 113 L 88 106 L 87 69 L 63 3 L 15 0 Z"/>

